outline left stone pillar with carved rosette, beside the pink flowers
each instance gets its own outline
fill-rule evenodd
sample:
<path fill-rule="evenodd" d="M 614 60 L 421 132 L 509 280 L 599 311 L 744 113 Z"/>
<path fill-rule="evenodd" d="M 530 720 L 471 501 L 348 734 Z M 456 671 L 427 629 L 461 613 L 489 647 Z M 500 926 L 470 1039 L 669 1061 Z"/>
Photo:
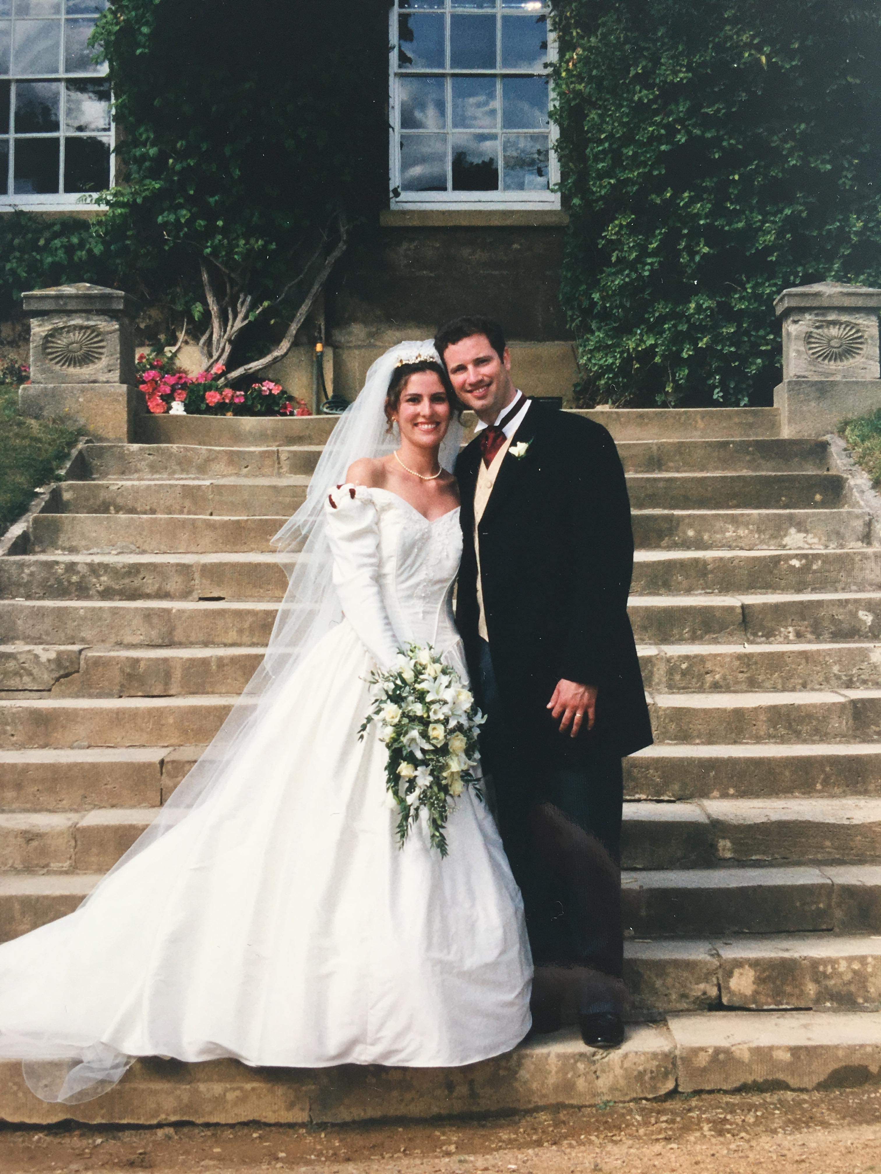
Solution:
<path fill-rule="evenodd" d="M 135 302 L 102 285 L 56 285 L 22 295 L 31 315 L 31 383 L 19 392 L 27 416 L 85 427 L 94 440 L 134 439 L 143 396 L 135 384 Z"/>

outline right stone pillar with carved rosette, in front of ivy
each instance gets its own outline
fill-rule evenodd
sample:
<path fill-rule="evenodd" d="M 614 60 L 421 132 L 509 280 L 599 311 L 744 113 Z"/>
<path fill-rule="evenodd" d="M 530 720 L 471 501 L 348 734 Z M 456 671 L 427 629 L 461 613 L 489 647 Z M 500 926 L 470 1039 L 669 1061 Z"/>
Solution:
<path fill-rule="evenodd" d="M 784 382 L 774 389 L 785 437 L 821 437 L 881 407 L 881 290 L 819 282 L 784 290 Z"/>

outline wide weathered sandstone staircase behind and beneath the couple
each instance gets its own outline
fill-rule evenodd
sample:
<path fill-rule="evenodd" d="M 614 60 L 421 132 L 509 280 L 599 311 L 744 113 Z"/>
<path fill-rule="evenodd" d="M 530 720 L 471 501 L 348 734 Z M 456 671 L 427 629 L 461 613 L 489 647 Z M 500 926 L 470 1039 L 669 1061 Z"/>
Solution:
<path fill-rule="evenodd" d="M 146 1061 L 80 1119 L 432 1115 L 881 1067 L 881 1016 L 862 1013 L 881 1007 L 872 518 L 774 409 L 591 414 L 627 472 L 657 738 L 625 764 L 628 1043 L 539 1040 L 477 1066 L 472 1093 L 462 1074 Z M 332 421 L 139 426 L 85 446 L 27 552 L 0 559 L 0 939 L 74 909 L 226 716 L 285 585 L 269 538 Z M 0 1082 L 7 1120 L 67 1114 Z"/>

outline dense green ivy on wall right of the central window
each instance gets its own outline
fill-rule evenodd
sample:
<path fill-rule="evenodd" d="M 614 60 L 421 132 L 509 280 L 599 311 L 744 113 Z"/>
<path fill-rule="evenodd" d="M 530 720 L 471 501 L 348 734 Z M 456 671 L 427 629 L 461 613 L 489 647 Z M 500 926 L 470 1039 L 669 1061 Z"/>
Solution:
<path fill-rule="evenodd" d="M 876 0 L 554 0 L 583 403 L 771 402 L 773 299 L 881 284 Z"/>

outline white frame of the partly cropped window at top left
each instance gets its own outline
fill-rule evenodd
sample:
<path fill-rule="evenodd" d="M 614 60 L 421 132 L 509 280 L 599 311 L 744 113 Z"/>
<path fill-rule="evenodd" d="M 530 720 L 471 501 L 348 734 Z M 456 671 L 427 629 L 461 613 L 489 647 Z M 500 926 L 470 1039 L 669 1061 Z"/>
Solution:
<path fill-rule="evenodd" d="M 22 18 L 19 18 L 22 19 Z M 23 18 L 27 19 L 27 18 Z M 46 18 L 43 18 L 46 19 Z M 94 207 L 93 201 L 95 193 L 60 193 L 60 191 L 47 191 L 38 194 L 15 194 L 14 188 L 14 168 L 15 168 L 15 140 L 16 137 L 27 139 L 59 139 L 59 187 L 63 182 L 65 176 L 65 142 L 67 139 L 95 139 L 95 137 L 107 137 L 109 135 L 110 141 L 110 169 L 108 175 L 108 187 L 113 187 L 116 175 L 116 127 L 113 120 L 113 114 L 110 114 L 110 129 L 109 133 L 106 130 L 94 131 L 72 131 L 68 134 L 65 130 L 66 114 L 67 114 L 67 87 L 65 82 L 68 81 L 101 81 L 102 77 L 107 76 L 107 65 L 101 69 L 93 69 L 88 73 L 65 73 L 65 33 L 66 33 L 66 21 L 68 20 L 92 20 L 93 14 L 83 14 L 82 16 L 74 15 L 68 16 L 66 12 L 58 18 L 49 18 L 58 20 L 61 25 L 61 36 L 59 38 L 59 72 L 55 74 L 43 73 L 43 74 L 18 74 L 9 69 L 8 74 L 0 75 L 0 82 L 9 83 L 9 127 L 7 128 L 8 134 L 0 134 L 0 139 L 5 140 L 9 144 L 8 161 L 7 161 L 7 182 L 8 182 L 8 195 L 0 195 L 0 212 L 9 211 L 78 211 L 86 208 Z M 12 47 L 11 47 L 12 52 Z M 23 136 L 16 136 L 14 134 L 14 120 L 15 120 L 15 83 L 16 82 L 59 82 L 61 86 L 61 101 L 59 107 L 59 130 L 47 130 L 47 131 L 28 131 Z M 110 110 L 113 112 L 113 94 L 110 94 Z"/>

